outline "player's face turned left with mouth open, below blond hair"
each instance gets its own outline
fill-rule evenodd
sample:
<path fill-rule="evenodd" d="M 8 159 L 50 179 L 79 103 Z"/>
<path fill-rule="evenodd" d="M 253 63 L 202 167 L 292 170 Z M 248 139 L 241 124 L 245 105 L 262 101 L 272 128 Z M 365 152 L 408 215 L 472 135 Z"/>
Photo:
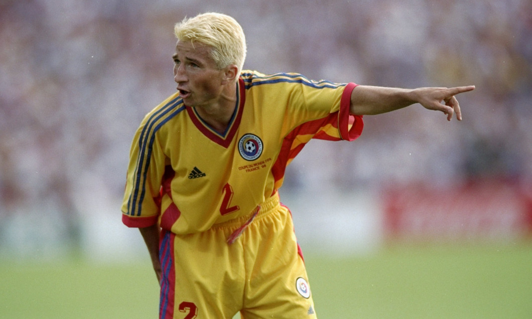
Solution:
<path fill-rule="evenodd" d="M 177 41 L 173 75 L 187 106 L 213 104 L 220 97 L 224 71 L 217 68 L 210 52 L 211 47 L 202 43 Z"/>

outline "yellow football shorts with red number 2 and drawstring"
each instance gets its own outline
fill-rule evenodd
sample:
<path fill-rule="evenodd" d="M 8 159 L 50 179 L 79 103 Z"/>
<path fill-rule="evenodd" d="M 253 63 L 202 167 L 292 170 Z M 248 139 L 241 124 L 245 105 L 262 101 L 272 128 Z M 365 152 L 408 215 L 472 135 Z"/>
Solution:
<path fill-rule="evenodd" d="M 161 239 L 161 318 L 316 318 L 292 215 L 279 197 L 250 216 Z"/>

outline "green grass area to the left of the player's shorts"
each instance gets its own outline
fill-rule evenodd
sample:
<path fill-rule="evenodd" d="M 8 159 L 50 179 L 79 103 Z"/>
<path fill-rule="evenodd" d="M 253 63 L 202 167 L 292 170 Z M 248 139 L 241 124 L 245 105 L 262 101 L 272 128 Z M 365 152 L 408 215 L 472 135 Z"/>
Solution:
<path fill-rule="evenodd" d="M 0 266 L 0 318 L 155 318 L 159 289 L 149 264 Z"/>

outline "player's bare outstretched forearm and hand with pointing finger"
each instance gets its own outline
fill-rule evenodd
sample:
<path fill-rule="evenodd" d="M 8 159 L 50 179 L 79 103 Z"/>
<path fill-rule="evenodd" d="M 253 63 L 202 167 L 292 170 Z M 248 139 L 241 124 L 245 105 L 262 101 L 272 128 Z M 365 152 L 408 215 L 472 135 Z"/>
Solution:
<path fill-rule="evenodd" d="M 460 105 L 454 96 L 473 89 L 475 86 L 417 89 L 357 86 L 351 94 L 350 112 L 354 115 L 375 115 L 419 103 L 428 110 L 447 114 L 448 121 L 451 121 L 453 113 L 456 113 L 456 119 L 462 120 Z"/>

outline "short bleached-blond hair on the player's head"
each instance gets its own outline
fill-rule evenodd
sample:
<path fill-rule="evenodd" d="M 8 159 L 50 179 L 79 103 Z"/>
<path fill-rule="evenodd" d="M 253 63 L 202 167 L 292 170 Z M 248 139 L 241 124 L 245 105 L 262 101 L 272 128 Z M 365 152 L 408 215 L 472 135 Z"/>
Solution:
<path fill-rule="evenodd" d="M 240 24 L 231 16 L 213 12 L 199 14 L 176 23 L 173 32 L 178 40 L 211 46 L 211 57 L 218 68 L 236 64 L 238 71 L 242 71 L 246 38 Z"/>

